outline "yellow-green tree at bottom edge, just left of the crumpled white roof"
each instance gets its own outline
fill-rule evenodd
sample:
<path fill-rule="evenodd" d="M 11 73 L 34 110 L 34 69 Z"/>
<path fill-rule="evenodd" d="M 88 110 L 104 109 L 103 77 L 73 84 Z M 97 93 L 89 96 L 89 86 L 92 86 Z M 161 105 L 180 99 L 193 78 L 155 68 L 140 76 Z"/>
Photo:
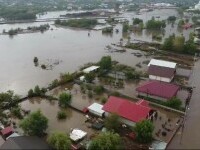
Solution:
<path fill-rule="evenodd" d="M 51 134 L 47 142 L 53 149 L 56 150 L 70 150 L 71 149 L 71 141 L 68 135 L 64 133 L 55 132 Z"/>

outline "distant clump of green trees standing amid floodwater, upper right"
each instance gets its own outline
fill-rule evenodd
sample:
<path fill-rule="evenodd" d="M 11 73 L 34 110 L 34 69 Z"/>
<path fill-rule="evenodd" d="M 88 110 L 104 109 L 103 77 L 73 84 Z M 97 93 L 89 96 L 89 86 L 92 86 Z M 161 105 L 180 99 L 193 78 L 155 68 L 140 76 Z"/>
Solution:
<path fill-rule="evenodd" d="M 147 29 L 162 29 L 165 27 L 166 27 L 166 23 L 164 20 L 162 20 L 162 21 L 155 20 L 154 17 L 152 17 L 152 19 L 147 21 L 147 23 L 146 23 Z"/>

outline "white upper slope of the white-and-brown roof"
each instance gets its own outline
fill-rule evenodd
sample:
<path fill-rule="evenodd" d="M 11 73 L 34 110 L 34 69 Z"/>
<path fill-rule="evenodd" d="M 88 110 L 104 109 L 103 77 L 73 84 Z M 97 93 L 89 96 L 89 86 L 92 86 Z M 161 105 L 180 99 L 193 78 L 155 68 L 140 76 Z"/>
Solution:
<path fill-rule="evenodd" d="M 158 60 L 158 59 L 151 59 L 148 66 L 150 65 L 167 67 L 167 68 L 176 68 L 176 63 L 170 62 L 170 61 Z"/>

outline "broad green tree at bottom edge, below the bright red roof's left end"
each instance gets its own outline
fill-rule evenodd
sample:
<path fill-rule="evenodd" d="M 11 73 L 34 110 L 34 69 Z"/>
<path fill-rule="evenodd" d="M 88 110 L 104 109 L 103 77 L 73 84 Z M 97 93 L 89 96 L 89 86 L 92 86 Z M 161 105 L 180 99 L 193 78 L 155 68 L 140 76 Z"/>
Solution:
<path fill-rule="evenodd" d="M 118 134 L 105 132 L 92 140 L 89 150 L 117 150 L 123 148 L 122 144 Z"/>

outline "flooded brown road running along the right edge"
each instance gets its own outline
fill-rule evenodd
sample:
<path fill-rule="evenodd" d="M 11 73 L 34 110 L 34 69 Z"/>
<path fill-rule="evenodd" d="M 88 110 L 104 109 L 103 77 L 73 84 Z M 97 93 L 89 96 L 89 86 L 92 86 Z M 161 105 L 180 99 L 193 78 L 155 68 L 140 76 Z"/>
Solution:
<path fill-rule="evenodd" d="M 200 149 L 200 61 L 195 63 L 189 79 L 189 85 L 195 87 L 186 115 L 183 133 L 177 132 L 168 149 Z"/>

